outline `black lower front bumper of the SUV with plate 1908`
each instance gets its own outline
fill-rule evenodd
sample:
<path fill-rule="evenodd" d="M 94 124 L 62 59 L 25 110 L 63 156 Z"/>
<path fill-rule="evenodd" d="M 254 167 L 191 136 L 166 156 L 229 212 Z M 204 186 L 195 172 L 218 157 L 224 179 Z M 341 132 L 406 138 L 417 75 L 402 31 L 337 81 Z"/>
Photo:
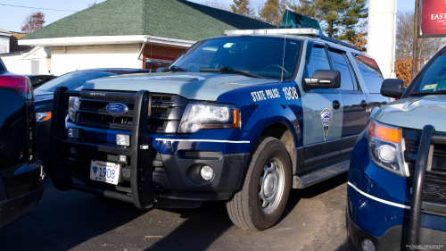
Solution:
<path fill-rule="evenodd" d="M 85 186 L 91 188 L 104 190 L 131 188 L 133 160 L 130 155 L 127 155 L 128 163 L 121 163 L 122 172 L 120 172 L 118 188 L 111 188 L 110 184 L 90 180 L 91 161 L 119 163 L 118 154 L 113 153 L 115 151 L 111 149 L 119 150 L 120 146 L 101 147 L 93 142 L 79 142 L 73 139 L 63 140 L 61 143 L 70 149 L 76 149 L 76 154 L 68 155 L 70 166 L 68 172 L 71 178 L 80 180 Z M 92 150 L 90 147 L 101 148 L 101 150 Z M 125 152 L 121 154 L 125 155 Z M 187 151 L 183 155 L 159 155 L 153 152 L 152 155 L 155 155 L 152 161 L 154 197 L 198 201 L 226 200 L 230 197 L 232 192 L 240 188 L 249 158 L 249 154 L 220 155 L 218 152 L 205 151 Z M 211 181 L 202 180 L 200 176 L 200 169 L 204 165 L 209 165 L 214 170 Z M 144 182 L 148 183 L 150 180 Z"/>

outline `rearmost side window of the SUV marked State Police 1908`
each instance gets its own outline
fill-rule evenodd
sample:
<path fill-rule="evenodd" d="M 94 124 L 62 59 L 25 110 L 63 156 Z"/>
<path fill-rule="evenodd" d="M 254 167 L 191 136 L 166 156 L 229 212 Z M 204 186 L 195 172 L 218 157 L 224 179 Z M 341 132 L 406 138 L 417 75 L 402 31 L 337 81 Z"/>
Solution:
<path fill-rule="evenodd" d="M 356 59 L 362 78 L 366 81 L 368 92 L 381 93 L 384 78 L 376 61 L 360 54 L 353 54 L 353 56 Z"/>

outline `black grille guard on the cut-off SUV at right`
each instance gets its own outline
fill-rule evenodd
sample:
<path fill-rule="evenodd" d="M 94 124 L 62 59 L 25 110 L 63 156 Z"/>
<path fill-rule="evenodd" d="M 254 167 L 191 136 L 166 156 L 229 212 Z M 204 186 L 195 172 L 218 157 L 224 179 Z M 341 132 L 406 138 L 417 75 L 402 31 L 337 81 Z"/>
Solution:
<path fill-rule="evenodd" d="M 415 165 L 412 198 L 410 201 L 408 245 L 420 245 L 421 212 L 424 208 L 444 210 L 441 203 L 423 201 L 425 174 L 430 171 L 434 155 L 434 145 L 446 146 L 446 136 L 435 134 L 434 126 L 425 125 L 418 147 L 417 163 Z"/>

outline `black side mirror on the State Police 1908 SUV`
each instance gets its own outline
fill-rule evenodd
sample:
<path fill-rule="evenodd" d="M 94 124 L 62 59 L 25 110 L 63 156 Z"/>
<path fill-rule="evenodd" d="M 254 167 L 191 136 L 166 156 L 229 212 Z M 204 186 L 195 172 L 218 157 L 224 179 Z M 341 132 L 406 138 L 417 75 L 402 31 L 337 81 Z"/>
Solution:
<path fill-rule="evenodd" d="M 333 70 L 318 70 L 311 79 L 303 79 L 303 90 L 341 88 L 341 72 Z"/>

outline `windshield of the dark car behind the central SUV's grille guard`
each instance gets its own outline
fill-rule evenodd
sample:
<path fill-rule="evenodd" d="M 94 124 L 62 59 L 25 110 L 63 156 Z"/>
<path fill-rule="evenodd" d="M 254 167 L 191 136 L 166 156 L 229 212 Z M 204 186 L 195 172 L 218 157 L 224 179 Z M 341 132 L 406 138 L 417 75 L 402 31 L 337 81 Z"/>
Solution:
<path fill-rule="evenodd" d="M 48 81 L 42 86 L 36 88 L 36 90 L 54 92 L 54 90 L 58 87 L 67 87 L 70 90 L 74 90 L 83 86 L 88 80 L 99 79 L 113 75 L 116 75 L 116 73 L 104 71 L 74 71 L 62 75 L 57 79 Z"/>

